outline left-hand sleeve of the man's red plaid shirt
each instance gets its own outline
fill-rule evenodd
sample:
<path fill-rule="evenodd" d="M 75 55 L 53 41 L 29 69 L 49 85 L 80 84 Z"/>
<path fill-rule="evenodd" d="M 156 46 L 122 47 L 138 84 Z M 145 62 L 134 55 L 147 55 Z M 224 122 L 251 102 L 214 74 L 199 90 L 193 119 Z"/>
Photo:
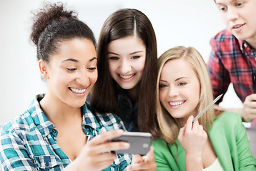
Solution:
<path fill-rule="evenodd" d="M 217 41 L 216 38 L 212 38 L 210 44 L 212 46 L 212 51 L 207 62 L 207 69 L 212 82 L 213 95 L 217 97 L 222 93 L 226 93 L 227 88 L 230 85 L 230 75 L 222 63 L 222 51 L 219 48 L 220 41 Z M 222 101 L 222 98 L 218 101 L 218 103 Z"/>

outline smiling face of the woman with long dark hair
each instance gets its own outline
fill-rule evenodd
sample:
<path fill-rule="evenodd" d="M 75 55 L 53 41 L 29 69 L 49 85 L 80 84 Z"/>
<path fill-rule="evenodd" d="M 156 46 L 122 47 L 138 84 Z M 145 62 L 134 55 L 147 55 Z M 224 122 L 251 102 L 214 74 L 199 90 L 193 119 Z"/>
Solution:
<path fill-rule="evenodd" d="M 146 47 L 134 36 L 119 38 L 108 46 L 109 72 L 123 89 L 137 86 L 142 79 L 146 61 Z"/>

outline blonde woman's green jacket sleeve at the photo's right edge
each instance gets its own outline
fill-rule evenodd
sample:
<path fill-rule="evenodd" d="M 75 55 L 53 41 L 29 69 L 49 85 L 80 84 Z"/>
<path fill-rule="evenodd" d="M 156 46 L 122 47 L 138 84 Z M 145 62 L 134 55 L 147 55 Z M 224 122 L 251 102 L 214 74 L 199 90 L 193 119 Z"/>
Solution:
<path fill-rule="evenodd" d="M 256 159 L 252 156 L 245 126 L 242 125 L 242 119 L 238 114 L 235 129 L 239 170 L 256 170 Z"/>

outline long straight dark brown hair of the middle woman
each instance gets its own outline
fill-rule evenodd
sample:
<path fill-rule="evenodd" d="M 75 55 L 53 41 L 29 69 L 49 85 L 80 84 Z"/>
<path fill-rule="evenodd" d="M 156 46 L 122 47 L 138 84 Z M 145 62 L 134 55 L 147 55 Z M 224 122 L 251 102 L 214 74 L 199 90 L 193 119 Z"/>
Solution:
<path fill-rule="evenodd" d="M 107 49 L 110 42 L 127 36 L 137 36 L 146 46 L 146 61 L 138 90 L 139 129 L 149 132 L 155 122 L 155 86 L 157 83 L 157 41 L 151 22 L 137 9 L 120 9 L 110 15 L 102 26 L 97 49 L 98 80 L 92 90 L 90 103 L 99 112 L 120 115 L 117 87 L 109 73 Z"/>

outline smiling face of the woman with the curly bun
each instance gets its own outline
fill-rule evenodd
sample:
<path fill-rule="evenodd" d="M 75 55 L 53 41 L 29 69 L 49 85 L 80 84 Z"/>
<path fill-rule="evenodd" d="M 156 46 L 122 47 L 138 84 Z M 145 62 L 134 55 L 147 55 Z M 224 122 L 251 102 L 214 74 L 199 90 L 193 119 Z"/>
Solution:
<path fill-rule="evenodd" d="M 53 103 L 79 108 L 97 81 L 94 44 L 86 38 L 62 41 L 57 52 L 45 63 L 47 93 Z"/>

